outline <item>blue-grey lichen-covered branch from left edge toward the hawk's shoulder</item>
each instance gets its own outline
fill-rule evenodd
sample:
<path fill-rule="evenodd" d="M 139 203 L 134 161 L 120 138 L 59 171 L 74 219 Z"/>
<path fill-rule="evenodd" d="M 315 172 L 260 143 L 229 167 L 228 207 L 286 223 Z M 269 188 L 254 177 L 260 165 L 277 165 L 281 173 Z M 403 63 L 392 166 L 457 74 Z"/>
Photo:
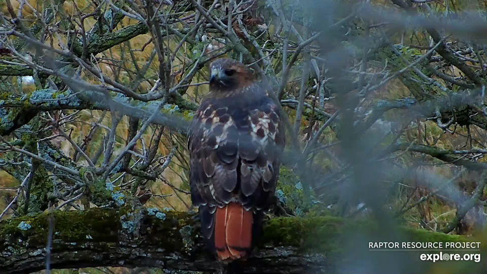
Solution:
<path fill-rule="evenodd" d="M 153 112 L 155 102 L 157 101 L 133 100 L 118 93 L 113 96 L 112 109 L 127 116 L 147 118 Z M 163 109 L 163 112 L 168 115 L 161 114 L 153 122 L 185 131 L 188 120 L 191 118 L 189 113 L 194 111 L 196 106 L 177 93 L 171 94 L 168 99 L 169 105 L 175 106 Z M 27 124 L 40 111 L 85 109 L 111 110 L 106 97 L 92 91 L 77 93 L 71 89 L 66 91 L 41 89 L 24 94 L 22 97 L 3 92 L 0 93 L 0 136 L 8 135 L 13 130 Z"/>

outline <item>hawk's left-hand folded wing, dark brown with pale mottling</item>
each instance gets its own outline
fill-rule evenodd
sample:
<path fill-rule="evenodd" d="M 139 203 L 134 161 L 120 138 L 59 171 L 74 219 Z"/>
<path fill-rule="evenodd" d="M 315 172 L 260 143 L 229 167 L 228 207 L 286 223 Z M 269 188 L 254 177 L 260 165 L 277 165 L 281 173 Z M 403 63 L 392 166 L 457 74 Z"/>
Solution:
<path fill-rule="evenodd" d="M 190 186 L 195 189 L 191 192 L 195 206 L 228 203 L 237 184 L 238 159 L 236 144 L 232 144 L 236 140 L 229 138 L 229 132 L 236 131 L 236 127 L 229 115 L 224 116 L 228 109 L 218 105 L 212 100 L 205 101 L 189 131 L 190 167 L 197 170 L 191 174 L 200 174 L 198 178 L 190 178 Z"/>

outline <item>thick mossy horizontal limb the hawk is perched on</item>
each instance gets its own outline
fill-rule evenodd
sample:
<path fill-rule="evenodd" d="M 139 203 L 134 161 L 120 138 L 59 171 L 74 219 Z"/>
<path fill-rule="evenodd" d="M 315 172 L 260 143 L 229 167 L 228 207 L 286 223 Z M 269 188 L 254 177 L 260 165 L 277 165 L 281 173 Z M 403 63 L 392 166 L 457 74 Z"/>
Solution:
<path fill-rule="evenodd" d="M 2 273 L 44 269 L 48 226 L 46 214 L 0 222 Z M 362 233 L 354 250 L 367 251 L 367 235 L 373 237 L 379 229 L 335 217 L 273 218 L 266 221 L 254 255 L 236 267 L 239 273 L 334 272 L 338 264 L 353 259 L 343 253 L 348 250 L 343 236 L 351 231 Z M 381 240 L 387 237 L 384 234 Z M 388 241 L 466 241 L 462 236 L 408 228 L 397 228 L 392 237 Z M 199 271 L 220 267 L 205 250 L 192 214 L 128 207 L 55 211 L 51 268 L 97 266 Z"/>

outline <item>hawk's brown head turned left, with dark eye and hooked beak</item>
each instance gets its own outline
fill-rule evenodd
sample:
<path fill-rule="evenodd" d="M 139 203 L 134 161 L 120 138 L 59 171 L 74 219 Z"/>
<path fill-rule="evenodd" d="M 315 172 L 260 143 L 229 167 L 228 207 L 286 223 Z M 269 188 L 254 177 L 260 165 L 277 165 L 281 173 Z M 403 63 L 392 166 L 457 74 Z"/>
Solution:
<path fill-rule="evenodd" d="M 213 91 L 231 91 L 252 83 L 252 71 L 238 61 L 220 58 L 210 65 L 210 88 Z"/>

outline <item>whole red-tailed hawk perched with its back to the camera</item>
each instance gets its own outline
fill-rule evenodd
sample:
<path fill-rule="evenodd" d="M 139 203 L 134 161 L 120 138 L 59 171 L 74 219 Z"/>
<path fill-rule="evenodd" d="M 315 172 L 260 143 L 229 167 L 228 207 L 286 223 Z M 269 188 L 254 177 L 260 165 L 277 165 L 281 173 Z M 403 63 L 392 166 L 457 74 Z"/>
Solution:
<path fill-rule="evenodd" d="M 217 59 L 210 71 L 210 93 L 188 132 L 191 200 L 217 257 L 246 259 L 274 196 L 284 128 L 244 64 Z"/>

